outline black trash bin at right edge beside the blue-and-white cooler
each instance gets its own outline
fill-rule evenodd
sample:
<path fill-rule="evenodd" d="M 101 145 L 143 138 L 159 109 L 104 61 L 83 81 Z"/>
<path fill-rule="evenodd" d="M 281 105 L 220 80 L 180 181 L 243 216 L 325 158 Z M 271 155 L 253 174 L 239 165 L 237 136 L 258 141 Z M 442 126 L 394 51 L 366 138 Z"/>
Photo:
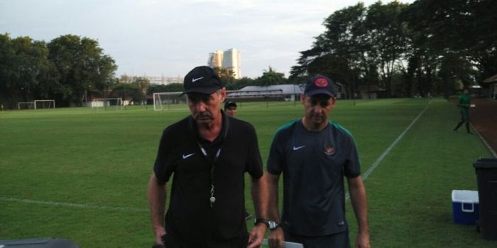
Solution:
<path fill-rule="evenodd" d="M 497 240 L 497 159 L 478 159 L 473 166 L 478 181 L 481 235 Z"/>

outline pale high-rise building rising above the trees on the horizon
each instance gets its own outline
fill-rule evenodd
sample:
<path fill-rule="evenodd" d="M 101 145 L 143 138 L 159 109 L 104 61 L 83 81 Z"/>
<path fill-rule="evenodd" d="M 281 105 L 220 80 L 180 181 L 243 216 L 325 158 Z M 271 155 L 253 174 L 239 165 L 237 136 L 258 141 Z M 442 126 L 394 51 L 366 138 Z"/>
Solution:
<path fill-rule="evenodd" d="M 217 50 L 216 52 L 209 53 L 209 67 L 221 67 L 223 69 L 231 69 L 235 79 L 241 78 L 241 55 L 240 51 L 231 48 L 226 51 Z"/>

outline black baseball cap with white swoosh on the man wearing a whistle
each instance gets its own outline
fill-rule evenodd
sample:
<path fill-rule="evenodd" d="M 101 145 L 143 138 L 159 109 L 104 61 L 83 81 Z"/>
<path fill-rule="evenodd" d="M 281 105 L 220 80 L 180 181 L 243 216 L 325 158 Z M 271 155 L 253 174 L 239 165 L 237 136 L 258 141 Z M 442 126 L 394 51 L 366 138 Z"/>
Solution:
<path fill-rule="evenodd" d="M 188 93 L 212 94 L 222 88 L 221 79 L 211 67 L 200 66 L 193 68 L 185 76 L 183 81 L 185 91 L 181 95 Z"/>

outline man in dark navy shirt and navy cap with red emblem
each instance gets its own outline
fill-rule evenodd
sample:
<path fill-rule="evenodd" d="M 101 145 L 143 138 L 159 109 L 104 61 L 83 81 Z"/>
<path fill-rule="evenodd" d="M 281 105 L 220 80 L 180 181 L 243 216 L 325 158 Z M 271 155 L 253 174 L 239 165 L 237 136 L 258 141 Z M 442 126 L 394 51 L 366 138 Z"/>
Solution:
<path fill-rule="evenodd" d="M 270 247 L 281 247 L 283 241 L 302 243 L 305 248 L 350 247 L 344 176 L 359 225 L 355 247 L 369 247 L 366 191 L 354 138 L 328 120 L 337 103 L 332 80 L 320 75 L 310 78 L 301 101 L 304 117 L 277 131 L 268 157 Z"/>

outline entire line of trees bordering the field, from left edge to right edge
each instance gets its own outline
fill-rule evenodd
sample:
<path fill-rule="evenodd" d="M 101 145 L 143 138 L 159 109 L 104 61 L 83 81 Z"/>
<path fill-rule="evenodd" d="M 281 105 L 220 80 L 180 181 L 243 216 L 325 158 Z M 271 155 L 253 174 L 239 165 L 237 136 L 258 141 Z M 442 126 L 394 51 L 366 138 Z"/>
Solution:
<path fill-rule="evenodd" d="M 324 74 L 344 86 L 347 98 L 364 86 L 382 89 L 386 97 L 447 98 L 497 74 L 496 24 L 497 4 L 491 0 L 358 3 L 324 20 L 324 33 L 300 52 L 288 78 L 271 66 L 255 79 L 234 79 L 229 69 L 214 69 L 229 90 L 302 84 Z M 34 99 L 81 106 L 92 96 L 143 101 L 153 92 L 182 91 L 182 84 L 116 78 L 116 69 L 97 40 L 62 35 L 45 43 L 0 34 L 0 103 L 6 108 Z"/>

